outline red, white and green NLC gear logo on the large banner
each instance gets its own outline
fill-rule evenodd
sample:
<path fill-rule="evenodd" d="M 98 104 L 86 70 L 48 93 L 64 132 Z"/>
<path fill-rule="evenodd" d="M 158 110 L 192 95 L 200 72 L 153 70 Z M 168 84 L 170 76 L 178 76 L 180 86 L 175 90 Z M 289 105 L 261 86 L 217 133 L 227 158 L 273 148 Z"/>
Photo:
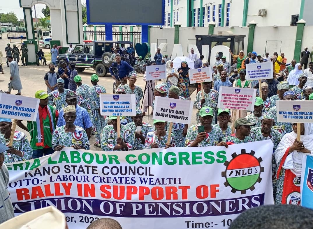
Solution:
<path fill-rule="evenodd" d="M 233 193 L 240 191 L 241 194 L 245 194 L 246 190 L 255 189 L 256 182 L 261 182 L 260 174 L 264 172 L 264 167 L 260 165 L 262 158 L 256 158 L 254 153 L 252 150 L 246 153 L 246 150 L 242 149 L 239 155 L 233 153 L 233 159 L 224 163 L 226 166 L 226 170 L 222 172 L 222 177 L 226 178 L 224 185 L 230 186 Z"/>

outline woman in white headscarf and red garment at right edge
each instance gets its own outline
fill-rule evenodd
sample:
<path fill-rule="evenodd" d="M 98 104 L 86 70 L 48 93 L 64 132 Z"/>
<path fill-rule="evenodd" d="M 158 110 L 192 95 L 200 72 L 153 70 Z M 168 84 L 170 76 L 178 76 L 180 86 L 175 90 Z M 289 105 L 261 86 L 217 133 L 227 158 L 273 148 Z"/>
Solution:
<path fill-rule="evenodd" d="M 278 167 L 276 204 L 300 205 L 302 161 L 306 154 L 313 154 L 313 124 L 300 125 L 300 141 L 297 140 L 297 123 L 292 123 L 293 132 L 285 134 L 275 150 Z"/>

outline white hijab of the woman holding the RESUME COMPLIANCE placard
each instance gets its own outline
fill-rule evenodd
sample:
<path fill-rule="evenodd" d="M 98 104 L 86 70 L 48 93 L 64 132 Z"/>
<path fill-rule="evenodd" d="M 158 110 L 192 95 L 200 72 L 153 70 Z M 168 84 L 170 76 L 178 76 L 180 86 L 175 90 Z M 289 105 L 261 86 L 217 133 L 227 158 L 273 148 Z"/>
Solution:
<path fill-rule="evenodd" d="M 280 143 L 275 150 L 275 159 L 277 163 L 277 167 L 279 166 L 280 160 L 283 158 L 286 150 L 290 147 L 295 139 L 297 138 L 297 134 L 295 132 L 291 132 L 285 134 Z M 304 123 L 304 135 L 300 136 L 300 141 L 303 142 L 305 148 L 311 151 L 313 154 L 313 124 L 312 123 Z M 291 152 L 285 160 L 283 165 L 284 169 L 290 169 L 296 176 L 301 177 L 301 169 L 302 169 L 302 160 L 306 153 L 293 151 Z"/>

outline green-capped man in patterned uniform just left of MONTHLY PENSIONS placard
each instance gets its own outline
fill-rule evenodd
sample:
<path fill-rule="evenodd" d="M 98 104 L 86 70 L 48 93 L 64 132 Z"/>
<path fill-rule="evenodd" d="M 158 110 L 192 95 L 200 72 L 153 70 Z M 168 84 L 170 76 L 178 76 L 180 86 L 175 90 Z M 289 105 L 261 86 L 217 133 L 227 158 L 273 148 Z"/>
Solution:
<path fill-rule="evenodd" d="M 91 108 L 91 121 L 94 124 L 95 132 L 95 143 L 94 146 L 101 147 L 100 145 L 100 134 L 101 130 L 105 126 L 105 119 L 100 115 L 100 94 L 106 93 L 103 86 L 98 85 L 99 77 L 96 74 L 91 75 L 92 87 L 88 89 L 89 93 L 89 104 Z"/>

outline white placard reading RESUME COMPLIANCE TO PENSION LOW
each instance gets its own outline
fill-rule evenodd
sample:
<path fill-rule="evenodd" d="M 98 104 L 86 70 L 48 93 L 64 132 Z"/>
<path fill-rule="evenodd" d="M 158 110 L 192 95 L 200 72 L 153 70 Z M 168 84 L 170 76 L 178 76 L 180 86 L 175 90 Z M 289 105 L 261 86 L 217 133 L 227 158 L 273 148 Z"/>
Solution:
<path fill-rule="evenodd" d="M 276 102 L 277 122 L 313 122 L 312 101 L 282 101 Z"/>

